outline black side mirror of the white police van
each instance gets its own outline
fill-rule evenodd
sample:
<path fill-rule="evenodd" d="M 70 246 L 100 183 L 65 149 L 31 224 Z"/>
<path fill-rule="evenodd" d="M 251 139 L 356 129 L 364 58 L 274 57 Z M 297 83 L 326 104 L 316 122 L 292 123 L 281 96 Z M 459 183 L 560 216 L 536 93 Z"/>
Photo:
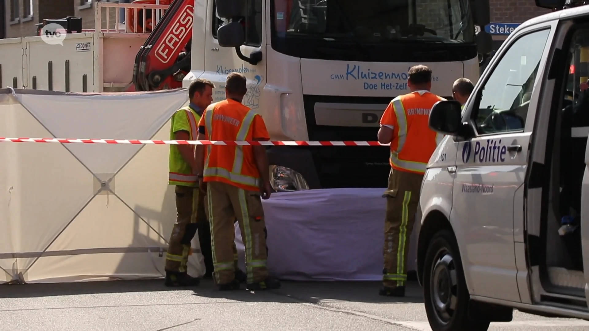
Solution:
<path fill-rule="evenodd" d="M 441 134 L 459 135 L 462 130 L 462 106 L 454 100 L 438 101 L 429 112 L 429 128 Z"/>

